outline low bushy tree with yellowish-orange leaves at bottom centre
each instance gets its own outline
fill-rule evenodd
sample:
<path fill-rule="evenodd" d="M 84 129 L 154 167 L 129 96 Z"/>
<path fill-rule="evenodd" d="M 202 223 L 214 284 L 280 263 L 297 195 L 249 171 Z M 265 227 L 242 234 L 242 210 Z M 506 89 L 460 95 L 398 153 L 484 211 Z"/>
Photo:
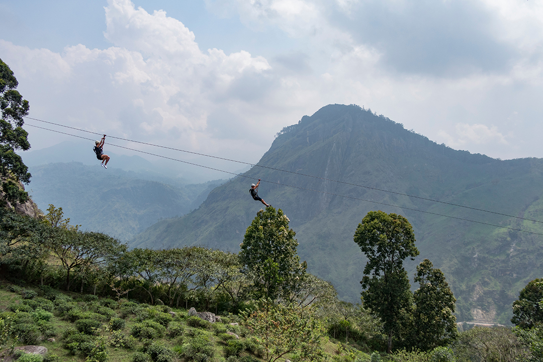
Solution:
<path fill-rule="evenodd" d="M 312 361 L 323 354 L 321 345 L 325 341 L 325 329 L 312 309 L 261 300 L 255 312 L 242 315 L 244 324 L 262 340 L 268 362 L 295 352 L 301 359 Z"/>

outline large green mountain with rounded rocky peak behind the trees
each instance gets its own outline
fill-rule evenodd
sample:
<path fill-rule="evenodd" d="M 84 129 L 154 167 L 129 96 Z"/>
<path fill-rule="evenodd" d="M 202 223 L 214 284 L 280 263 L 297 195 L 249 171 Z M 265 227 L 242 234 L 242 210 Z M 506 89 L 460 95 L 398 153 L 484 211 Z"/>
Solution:
<path fill-rule="evenodd" d="M 262 179 L 259 194 L 291 220 L 308 271 L 332 282 L 344 299 L 359 300 L 365 258 L 352 236 L 377 209 L 411 222 L 420 255 L 407 265 L 409 276 L 424 258 L 443 270 L 459 321 L 508 323 L 519 291 L 543 273 L 541 236 L 460 219 L 536 233 L 543 233 L 541 224 L 402 195 L 541 220 L 543 160 L 453 150 L 358 106 L 329 105 L 283 129 L 258 165 L 268 168 L 253 167 L 217 187 L 197 210 L 160 221 L 130 245 L 237 252 L 263 206 L 250 198 L 251 179 Z"/>

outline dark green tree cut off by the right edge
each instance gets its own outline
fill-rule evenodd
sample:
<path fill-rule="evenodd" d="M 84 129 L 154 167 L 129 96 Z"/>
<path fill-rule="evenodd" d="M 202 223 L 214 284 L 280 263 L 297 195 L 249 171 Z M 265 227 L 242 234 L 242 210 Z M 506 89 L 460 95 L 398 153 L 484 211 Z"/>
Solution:
<path fill-rule="evenodd" d="M 521 328 L 531 328 L 543 323 L 543 278 L 534 279 L 520 291 L 513 302 L 511 322 Z"/>

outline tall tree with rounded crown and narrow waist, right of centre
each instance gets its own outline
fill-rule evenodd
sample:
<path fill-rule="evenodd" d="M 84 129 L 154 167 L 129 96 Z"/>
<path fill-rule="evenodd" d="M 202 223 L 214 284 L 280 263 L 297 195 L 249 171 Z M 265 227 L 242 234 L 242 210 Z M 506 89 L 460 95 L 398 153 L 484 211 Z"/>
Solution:
<path fill-rule="evenodd" d="M 380 316 L 388 335 L 387 353 L 391 353 L 392 337 L 412 308 L 403 261 L 419 255 L 413 228 L 401 215 L 370 211 L 358 224 L 354 241 L 368 258 L 361 281 L 362 302 Z"/>

